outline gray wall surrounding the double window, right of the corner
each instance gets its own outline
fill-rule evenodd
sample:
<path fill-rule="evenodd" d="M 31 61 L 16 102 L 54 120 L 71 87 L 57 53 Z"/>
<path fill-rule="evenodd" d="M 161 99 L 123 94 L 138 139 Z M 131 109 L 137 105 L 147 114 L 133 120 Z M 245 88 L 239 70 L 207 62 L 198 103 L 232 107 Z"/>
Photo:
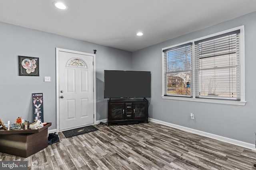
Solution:
<path fill-rule="evenodd" d="M 176 101 L 161 98 L 162 48 L 240 25 L 245 27 L 246 106 Z M 149 106 L 149 117 L 254 144 L 256 131 L 256 97 L 254 93 L 255 39 L 256 12 L 132 53 L 133 70 L 149 70 L 152 74 L 152 97 Z M 190 113 L 194 113 L 194 120 L 190 119 Z"/>

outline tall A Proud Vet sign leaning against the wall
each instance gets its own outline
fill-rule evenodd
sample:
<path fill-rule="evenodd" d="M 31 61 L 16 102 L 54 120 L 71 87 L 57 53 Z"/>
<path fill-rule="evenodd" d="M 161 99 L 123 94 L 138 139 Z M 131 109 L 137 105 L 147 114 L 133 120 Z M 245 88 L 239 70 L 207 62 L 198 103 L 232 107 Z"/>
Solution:
<path fill-rule="evenodd" d="M 44 122 L 43 93 L 32 93 L 33 121 Z"/>

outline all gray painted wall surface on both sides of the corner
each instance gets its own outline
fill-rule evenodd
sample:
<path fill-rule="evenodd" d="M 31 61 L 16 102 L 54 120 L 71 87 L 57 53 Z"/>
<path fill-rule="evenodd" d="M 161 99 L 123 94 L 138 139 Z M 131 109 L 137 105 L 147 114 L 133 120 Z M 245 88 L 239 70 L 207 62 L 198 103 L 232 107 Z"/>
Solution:
<path fill-rule="evenodd" d="M 162 99 L 162 53 L 175 45 L 245 25 L 246 106 L 209 104 Z M 151 71 L 152 96 L 149 117 L 200 131 L 254 143 L 256 97 L 254 96 L 254 40 L 256 13 L 251 13 L 194 33 L 130 53 L 51 33 L 0 22 L 0 119 L 14 122 L 17 117 L 32 119 L 31 94 L 44 93 L 44 120 L 56 128 L 56 56 L 55 48 L 96 54 L 96 119 L 107 118 L 107 99 L 103 96 L 104 70 Z M 18 55 L 39 57 L 40 76 L 18 76 Z M 52 82 L 44 82 L 51 76 Z M 184 107 L 185 106 L 185 107 Z M 195 119 L 190 119 L 190 113 Z"/>

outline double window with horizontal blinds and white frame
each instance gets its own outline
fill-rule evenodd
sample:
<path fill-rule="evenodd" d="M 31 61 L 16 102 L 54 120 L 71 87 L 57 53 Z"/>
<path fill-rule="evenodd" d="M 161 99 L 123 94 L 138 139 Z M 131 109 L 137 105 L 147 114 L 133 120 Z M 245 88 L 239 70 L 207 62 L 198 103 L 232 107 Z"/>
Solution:
<path fill-rule="evenodd" d="M 244 57 L 243 25 L 165 47 L 162 98 L 245 105 Z"/>

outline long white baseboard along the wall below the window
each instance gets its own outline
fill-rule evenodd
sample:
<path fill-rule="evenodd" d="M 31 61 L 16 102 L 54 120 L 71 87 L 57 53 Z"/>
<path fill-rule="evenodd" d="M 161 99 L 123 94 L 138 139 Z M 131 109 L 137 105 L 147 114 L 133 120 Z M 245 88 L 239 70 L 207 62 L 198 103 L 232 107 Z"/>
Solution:
<path fill-rule="evenodd" d="M 222 142 L 237 145 L 239 147 L 244 147 L 244 148 L 247 148 L 247 149 L 256 150 L 255 145 L 251 144 L 251 143 L 246 143 L 246 142 L 243 142 L 243 141 L 238 141 L 236 139 L 230 139 L 230 138 L 227 138 L 227 137 L 214 135 L 212 133 L 198 131 L 196 129 L 191 129 L 191 128 L 188 128 L 188 127 L 175 125 L 175 124 L 172 124 L 172 123 L 168 123 L 168 122 L 164 122 L 164 121 L 160 121 L 160 120 L 156 120 L 156 119 L 148 118 L 148 120 L 152 121 L 152 122 L 155 122 L 155 123 L 159 123 L 161 125 L 166 125 L 166 126 L 173 127 L 173 128 L 176 128 L 176 129 L 180 129 L 180 130 L 183 130 L 183 131 L 187 131 L 187 132 L 190 132 L 190 133 L 195 133 L 197 135 L 202 135 L 202 136 L 209 137 L 209 138 L 212 138 L 212 139 L 216 139 L 216 140 L 219 140 L 219 141 L 222 141 Z"/>

